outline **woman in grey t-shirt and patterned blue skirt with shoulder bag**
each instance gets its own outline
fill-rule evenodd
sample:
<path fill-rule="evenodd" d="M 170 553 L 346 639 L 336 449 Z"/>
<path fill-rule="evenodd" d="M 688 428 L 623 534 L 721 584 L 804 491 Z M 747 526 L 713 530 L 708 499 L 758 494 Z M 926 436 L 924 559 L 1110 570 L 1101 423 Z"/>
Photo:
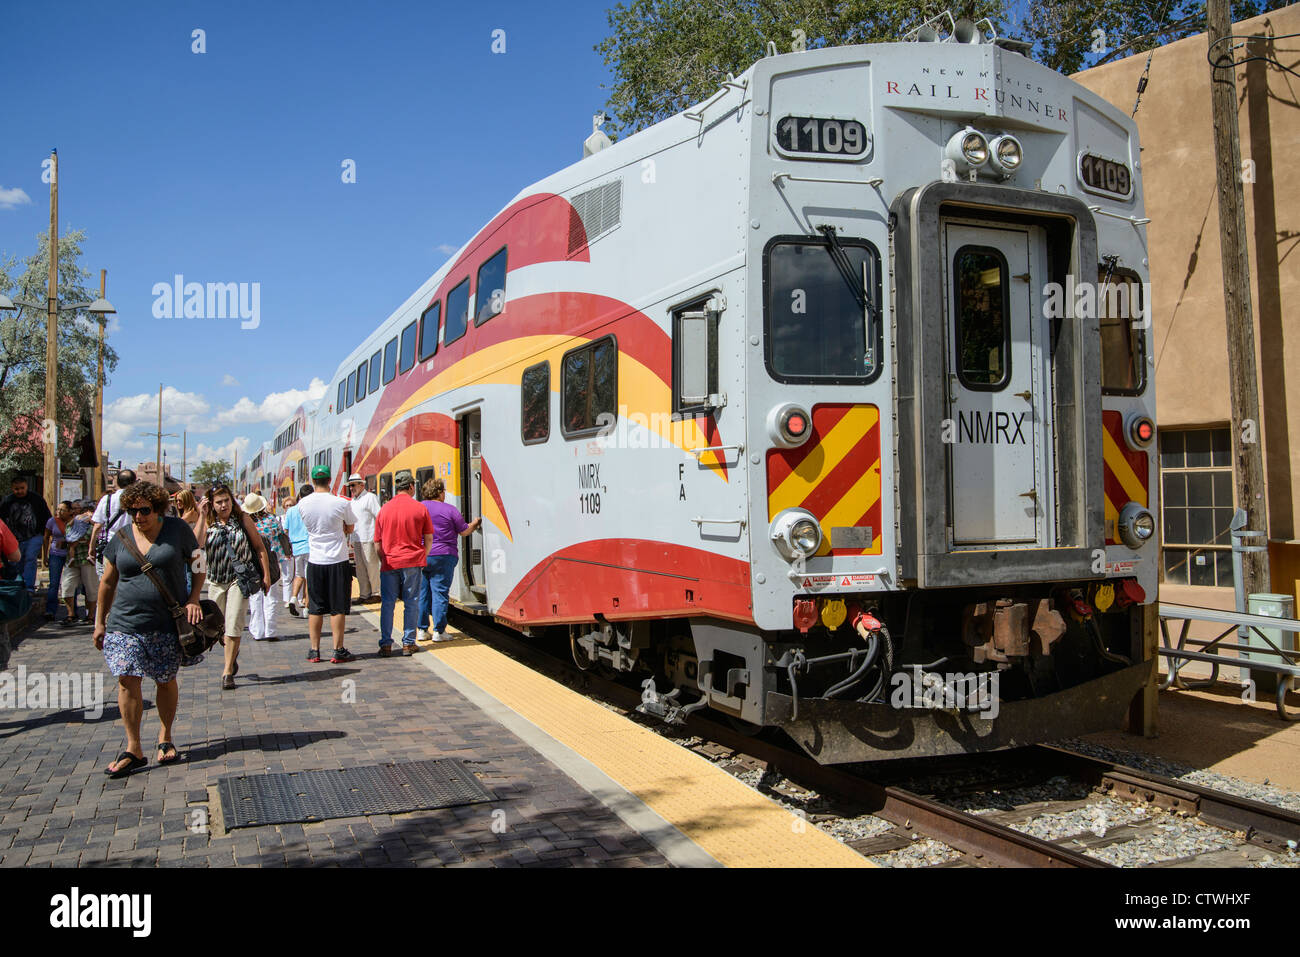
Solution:
<path fill-rule="evenodd" d="M 146 677 L 157 685 L 153 701 L 162 726 L 159 728 L 157 762 L 169 765 L 177 758 L 172 744 L 172 723 L 181 693 L 176 680 L 181 667 L 176 619 L 162 593 L 124 541 L 130 536 L 135 550 L 153 567 L 172 597 L 185 601 L 188 620 L 203 620 L 199 609 L 203 572 L 198 567 L 188 593 L 185 590 L 185 572 L 199 557 L 199 542 L 185 521 L 166 515 L 168 505 L 166 492 L 153 482 L 129 485 L 122 492 L 121 507 L 130 523 L 104 550 L 94 642 L 117 677 L 117 707 L 126 731 L 126 749 L 104 770 L 110 778 L 124 778 L 148 765 L 140 745 L 144 714 L 140 681 Z"/>

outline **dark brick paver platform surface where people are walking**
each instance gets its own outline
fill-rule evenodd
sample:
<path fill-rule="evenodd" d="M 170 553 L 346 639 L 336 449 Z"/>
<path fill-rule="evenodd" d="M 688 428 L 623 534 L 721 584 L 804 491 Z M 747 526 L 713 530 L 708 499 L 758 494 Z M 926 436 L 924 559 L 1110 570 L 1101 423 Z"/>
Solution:
<path fill-rule="evenodd" d="M 90 627 L 29 632 L 10 674 L 103 672 L 104 714 L 0 710 L 0 866 L 664 866 L 641 835 L 419 655 L 378 658 L 377 632 L 359 615 L 348 618 L 346 642 L 361 657 L 350 664 L 307 663 L 306 620 L 282 612 L 280 632 L 274 642 L 244 638 L 235 690 L 221 690 L 220 646 L 182 668 L 179 761 L 159 766 L 147 752 L 148 768 L 118 780 L 103 772 L 125 740 L 117 687 Z M 152 744 L 153 684 L 143 684 L 140 733 Z M 473 762 L 497 800 L 229 833 L 220 826 L 214 785 L 228 774 L 442 757 Z"/>

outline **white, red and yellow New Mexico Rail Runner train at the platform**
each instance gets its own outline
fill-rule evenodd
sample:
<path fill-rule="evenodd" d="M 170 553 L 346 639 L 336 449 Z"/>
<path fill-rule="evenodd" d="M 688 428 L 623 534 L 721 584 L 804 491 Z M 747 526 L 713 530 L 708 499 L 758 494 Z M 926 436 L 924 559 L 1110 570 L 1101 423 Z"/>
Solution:
<path fill-rule="evenodd" d="M 460 607 L 824 763 L 1115 727 L 1158 554 L 1138 129 L 928 35 L 593 133 L 242 488 L 441 476 L 484 518 Z"/>

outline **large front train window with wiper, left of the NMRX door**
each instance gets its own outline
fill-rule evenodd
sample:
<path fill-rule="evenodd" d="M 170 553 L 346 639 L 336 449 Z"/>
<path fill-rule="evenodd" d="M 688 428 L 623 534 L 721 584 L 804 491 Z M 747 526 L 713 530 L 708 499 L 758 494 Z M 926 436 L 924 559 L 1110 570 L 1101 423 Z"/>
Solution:
<path fill-rule="evenodd" d="M 862 239 L 779 237 L 766 254 L 767 368 L 781 382 L 880 372 L 880 254 Z"/>

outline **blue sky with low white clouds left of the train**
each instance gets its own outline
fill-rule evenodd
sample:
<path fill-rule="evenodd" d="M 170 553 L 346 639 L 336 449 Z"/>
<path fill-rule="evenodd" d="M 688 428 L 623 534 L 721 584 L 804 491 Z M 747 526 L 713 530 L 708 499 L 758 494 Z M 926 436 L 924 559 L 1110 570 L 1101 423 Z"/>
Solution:
<path fill-rule="evenodd" d="M 110 458 L 152 460 L 161 384 L 191 468 L 243 460 L 520 189 L 577 160 L 608 5 L 0 0 L 0 256 L 48 230 L 57 147 L 60 231 L 86 230 L 118 309 Z M 155 317 L 178 273 L 260 283 L 259 326 Z M 165 447 L 179 472 L 181 439 Z"/>

